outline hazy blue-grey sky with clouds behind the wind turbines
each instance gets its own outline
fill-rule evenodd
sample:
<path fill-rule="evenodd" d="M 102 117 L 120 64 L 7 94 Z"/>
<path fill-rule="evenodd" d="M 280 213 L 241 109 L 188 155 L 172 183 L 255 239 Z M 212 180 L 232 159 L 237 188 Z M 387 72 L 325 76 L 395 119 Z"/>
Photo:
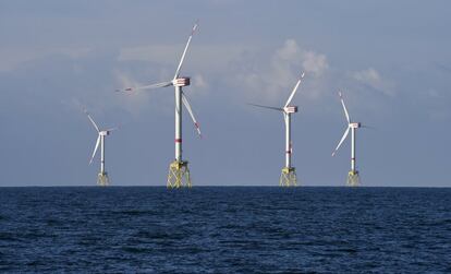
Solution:
<path fill-rule="evenodd" d="M 451 187 L 450 1 L 0 0 L 0 186 L 95 186 L 100 128 L 113 186 L 166 186 L 174 157 L 170 80 L 196 20 L 184 88 L 200 123 L 183 118 L 194 186 L 278 186 L 283 117 L 247 103 L 292 104 L 301 186 L 344 186 L 358 129 L 368 187 Z M 184 112 L 186 114 L 186 112 Z M 98 155 L 97 155 L 98 156 Z"/>

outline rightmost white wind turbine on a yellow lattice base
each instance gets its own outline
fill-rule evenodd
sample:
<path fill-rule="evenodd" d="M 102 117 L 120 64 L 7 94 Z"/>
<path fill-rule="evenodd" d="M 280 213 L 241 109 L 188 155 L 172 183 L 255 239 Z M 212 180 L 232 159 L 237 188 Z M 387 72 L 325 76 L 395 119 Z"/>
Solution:
<path fill-rule="evenodd" d="M 333 151 L 332 156 L 336 155 L 337 151 L 340 148 L 341 144 L 344 142 L 344 140 L 346 139 L 351 130 L 351 170 L 348 172 L 346 184 L 350 187 L 356 187 L 359 184 L 361 179 L 359 179 L 358 170 L 355 167 L 355 133 L 356 133 L 355 130 L 358 128 L 367 128 L 367 127 L 363 126 L 359 122 L 351 121 L 350 115 L 348 114 L 346 106 L 344 105 L 343 96 L 340 92 L 339 92 L 339 96 L 340 96 L 341 105 L 343 106 L 344 116 L 346 117 L 348 128 L 344 131 L 344 134 L 341 138 L 339 144 L 337 145 L 337 148 Z"/>

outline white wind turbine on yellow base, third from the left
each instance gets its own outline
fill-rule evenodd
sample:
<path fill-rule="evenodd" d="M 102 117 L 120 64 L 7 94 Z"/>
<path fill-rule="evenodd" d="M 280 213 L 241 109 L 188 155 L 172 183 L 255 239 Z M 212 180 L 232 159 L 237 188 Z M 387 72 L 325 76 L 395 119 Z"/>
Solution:
<path fill-rule="evenodd" d="M 279 186 L 280 187 L 295 187 L 297 186 L 296 169 L 291 165 L 291 155 L 293 154 L 292 142 L 291 142 L 291 114 L 297 112 L 297 106 L 290 106 L 294 94 L 296 94 L 297 87 L 301 81 L 304 79 L 304 73 L 297 80 L 296 85 L 290 94 L 285 105 L 283 107 L 270 107 L 263 105 L 249 104 L 252 106 L 261 107 L 266 109 L 281 111 L 283 114 L 283 120 L 285 121 L 285 166 L 282 168 L 280 175 Z"/>

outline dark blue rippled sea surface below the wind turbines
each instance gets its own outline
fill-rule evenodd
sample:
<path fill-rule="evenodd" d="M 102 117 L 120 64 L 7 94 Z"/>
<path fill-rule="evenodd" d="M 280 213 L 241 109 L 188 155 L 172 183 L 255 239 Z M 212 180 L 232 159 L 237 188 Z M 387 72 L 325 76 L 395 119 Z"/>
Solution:
<path fill-rule="evenodd" d="M 451 189 L 0 188 L 2 273 L 451 273 Z"/>

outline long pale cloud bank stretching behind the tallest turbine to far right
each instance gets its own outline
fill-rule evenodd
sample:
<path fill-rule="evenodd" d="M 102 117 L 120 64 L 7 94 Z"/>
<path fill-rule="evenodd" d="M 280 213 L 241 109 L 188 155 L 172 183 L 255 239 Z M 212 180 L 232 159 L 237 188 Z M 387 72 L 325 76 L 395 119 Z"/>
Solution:
<path fill-rule="evenodd" d="M 181 50 L 182 44 L 123 48 L 118 61 L 122 64 L 139 62 L 143 70 L 151 68 L 154 73 L 148 80 L 159 82 L 172 76 Z M 158 71 L 157 75 L 155 72 Z M 193 45 L 182 69 L 182 75 L 192 76 L 190 93 L 205 95 L 219 85 L 240 102 L 272 105 L 287 99 L 302 72 L 305 78 L 297 96 L 304 96 L 303 99 L 334 96 L 340 88 L 394 95 L 394 84 L 375 68 L 348 72 L 334 70 L 325 53 L 303 48 L 294 39 L 287 39 L 272 50 L 255 45 Z M 139 79 L 139 75 L 126 74 Z M 127 81 L 119 82 L 126 84 Z M 138 85 L 132 82 L 132 85 Z"/>

